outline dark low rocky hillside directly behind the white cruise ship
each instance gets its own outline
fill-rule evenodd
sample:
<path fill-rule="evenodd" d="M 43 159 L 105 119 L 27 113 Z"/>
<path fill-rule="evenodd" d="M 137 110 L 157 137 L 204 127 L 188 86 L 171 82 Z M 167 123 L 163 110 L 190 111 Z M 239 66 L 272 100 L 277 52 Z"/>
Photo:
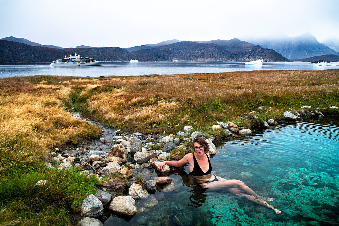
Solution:
<path fill-rule="evenodd" d="M 56 49 L 0 40 L 0 62 L 52 62 L 73 55 L 74 52 L 82 57 L 103 61 L 129 61 L 132 59 L 127 50 L 118 47 Z"/>

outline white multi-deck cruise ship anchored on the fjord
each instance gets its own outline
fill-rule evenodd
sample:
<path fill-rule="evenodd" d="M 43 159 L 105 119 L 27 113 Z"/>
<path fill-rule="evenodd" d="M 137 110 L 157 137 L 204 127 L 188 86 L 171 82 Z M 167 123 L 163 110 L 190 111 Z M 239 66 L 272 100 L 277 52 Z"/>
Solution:
<path fill-rule="evenodd" d="M 102 65 L 104 61 L 98 61 L 89 57 L 80 57 L 77 53 L 73 55 L 69 55 L 69 57 L 58 59 L 53 61 L 49 66 L 94 66 L 94 65 Z"/>

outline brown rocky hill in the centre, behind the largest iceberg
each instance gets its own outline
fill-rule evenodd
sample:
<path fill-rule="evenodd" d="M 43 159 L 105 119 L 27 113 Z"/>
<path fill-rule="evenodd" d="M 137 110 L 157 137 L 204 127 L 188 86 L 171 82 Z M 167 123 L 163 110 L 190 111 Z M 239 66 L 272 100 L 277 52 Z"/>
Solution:
<path fill-rule="evenodd" d="M 231 53 L 214 43 L 181 41 L 174 44 L 131 52 L 139 61 L 289 61 L 274 50 L 255 48 L 241 53 Z"/>

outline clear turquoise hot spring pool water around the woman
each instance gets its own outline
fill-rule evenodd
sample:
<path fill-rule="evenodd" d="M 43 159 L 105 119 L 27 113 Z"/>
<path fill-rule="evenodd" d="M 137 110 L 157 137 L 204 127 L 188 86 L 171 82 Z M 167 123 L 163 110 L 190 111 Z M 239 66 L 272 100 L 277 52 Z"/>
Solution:
<path fill-rule="evenodd" d="M 213 171 L 239 179 L 256 193 L 275 197 L 273 210 L 226 193 L 206 191 L 188 167 L 169 175 L 172 192 L 156 192 L 159 204 L 132 219 L 111 215 L 104 225 L 338 225 L 339 120 L 322 119 L 275 126 L 220 144 Z M 152 170 L 139 172 L 145 180 Z M 163 197 L 160 195 L 163 194 Z M 143 201 L 137 201 L 140 210 Z"/>

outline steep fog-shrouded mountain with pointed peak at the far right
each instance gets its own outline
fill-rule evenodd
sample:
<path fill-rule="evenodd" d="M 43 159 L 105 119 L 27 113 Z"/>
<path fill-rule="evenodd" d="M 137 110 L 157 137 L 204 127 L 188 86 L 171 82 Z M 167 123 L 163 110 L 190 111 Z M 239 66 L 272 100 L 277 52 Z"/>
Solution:
<path fill-rule="evenodd" d="M 339 54 L 335 50 L 320 43 L 310 33 L 296 37 L 260 37 L 244 38 L 245 41 L 260 45 L 262 48 L 273 49 L 287 59 L 303 59 L 325 54 Z"/>

